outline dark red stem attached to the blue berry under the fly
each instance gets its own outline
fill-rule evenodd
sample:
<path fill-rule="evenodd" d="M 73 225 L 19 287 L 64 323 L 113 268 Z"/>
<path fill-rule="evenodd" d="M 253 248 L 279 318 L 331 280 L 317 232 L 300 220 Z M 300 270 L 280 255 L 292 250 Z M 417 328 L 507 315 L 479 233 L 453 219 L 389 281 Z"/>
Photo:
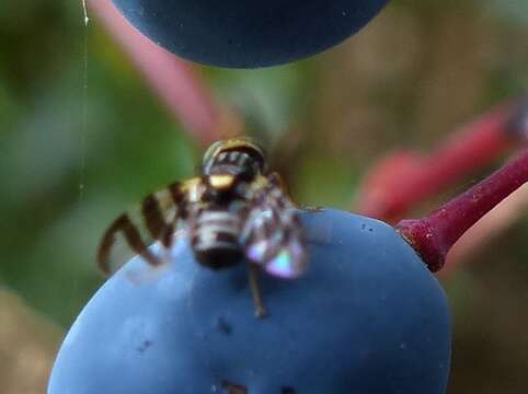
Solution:
<path fill-rule="evenodd" d="M 432 271 L 439 270 L 457 240 L 504 198 L 528 182 L 528 149 L 468 192 L 422 219 L 402 220 L 397 230 Z"/>

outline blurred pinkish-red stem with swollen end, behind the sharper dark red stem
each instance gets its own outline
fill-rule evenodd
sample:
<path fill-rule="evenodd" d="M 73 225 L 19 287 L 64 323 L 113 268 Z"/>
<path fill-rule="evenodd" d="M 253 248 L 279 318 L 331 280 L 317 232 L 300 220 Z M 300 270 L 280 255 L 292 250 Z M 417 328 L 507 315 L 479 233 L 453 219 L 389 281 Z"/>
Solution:
<path fill-rule="evenodd" d="M 389 157 L 367 179 L 355 210 L 389 221 L 401 216 L 447 185 L 492 162 L 516 140 L 527 141 L 526 114 L 528 105 L 519 100 L 467 125 L 427 158 L 410 153 Z"/>

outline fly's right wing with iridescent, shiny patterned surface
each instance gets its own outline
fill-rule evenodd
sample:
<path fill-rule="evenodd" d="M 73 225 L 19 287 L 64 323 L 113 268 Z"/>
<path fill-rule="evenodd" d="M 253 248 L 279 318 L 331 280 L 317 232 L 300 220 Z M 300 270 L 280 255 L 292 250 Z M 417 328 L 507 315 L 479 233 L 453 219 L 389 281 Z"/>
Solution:
<path fill-rule="evenodd" d="M 285 195 L 277 174 L 251 201 L 242 242 L 249 260 L 282 278 L 297 278 L 307 267 L 308 252 L 297 209 Z"/>

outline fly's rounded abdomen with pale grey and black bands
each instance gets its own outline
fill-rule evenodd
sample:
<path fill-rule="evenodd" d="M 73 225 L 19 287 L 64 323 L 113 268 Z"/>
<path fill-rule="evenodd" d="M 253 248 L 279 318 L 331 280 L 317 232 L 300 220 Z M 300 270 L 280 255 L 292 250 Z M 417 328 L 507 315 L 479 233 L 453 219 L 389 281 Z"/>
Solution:
<path fill-rule="evenodd" d="M 214 269 L 229 267 L 242 258 L 239 243 L 241 218 L 226 209 L 200 210 L 193 223 L 191 244 L 196 259 Z"/>

